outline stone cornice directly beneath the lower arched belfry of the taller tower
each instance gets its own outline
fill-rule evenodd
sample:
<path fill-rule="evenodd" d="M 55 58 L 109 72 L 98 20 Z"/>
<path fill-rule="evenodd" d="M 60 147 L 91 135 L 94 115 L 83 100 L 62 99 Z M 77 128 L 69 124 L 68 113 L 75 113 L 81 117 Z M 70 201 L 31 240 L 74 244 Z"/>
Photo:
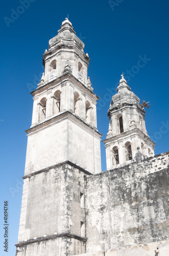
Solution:
<path fill-rule="evenodd" d="M 72 118 L 74 118 L 75 120 L 77 120 L 78 122 L 81 122 L 83 125 L 85 125 L 86 127 L 88 127 L 88 129 L 92 130 L 94 133 L 96 133 L 97 135 L 99 135 L 100 137 L 102 137 L 103 135 L 101 133 L 98 132 L 98 130 L 96 130 L 95 127 L 93 127 L 92 125 L 90 125 L 89 123 L 87 123 L 86 121 L 83 121 L 79 116 L 75 115 L 74 113 L 72 113 L 71 111 L 64 111 L 61 112 L 59 115 L 51 117 L 47 120 L 44 120 L 44 122 L 42 123 L 38 123 L 35 126 L 32 126 L 30 129 L 27 129 L 25 132 L 27 134 L 30 133 L 34 133 L 34 132 L 38 132 L 40 129 L 44 129 L 46 127 L 46 125 L 53 125 L 53 123 L 55 121 L 60 121 L 61 119 L 66 119 L 69 116 L 71 116 Z"/>

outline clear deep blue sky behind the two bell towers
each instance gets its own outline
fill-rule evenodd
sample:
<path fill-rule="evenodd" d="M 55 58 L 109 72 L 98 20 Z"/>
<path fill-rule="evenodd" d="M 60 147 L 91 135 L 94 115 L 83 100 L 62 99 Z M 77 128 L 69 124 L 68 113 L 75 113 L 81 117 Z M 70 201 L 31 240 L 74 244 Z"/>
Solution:
<path fill-rule="evenodd" d="M 15 255 L 27 142 L 24 130 L 30 127 L 32 118 L 33 99 L 27 84 L 32 84 L 33 90 L 36 88 L 43 72 L 42 54 L 48 49 L 49 39 L 57 35 L 67 13 L 91 58 L 89 76 L 94 92 L 101 98 L 97 117 L 103 139 L 108 130 L 110 94 L 115 93 L 123 71 L 128 73 L 128 84 L 140 100 L 152 103 L 151 108 L 146 109 L 146 127 L 157 144 L 155 154 L 169 149 L 167 0 L 115 0 L 111 3 L 29 0 L 26 7 L 20 6 L 17 0 L 3 1 L 0 10 L 3 110 L 0 115 L 0 254 L 8 256 Z M 140 58 L 145 59 L 142 67 Z M 101 152 L 102 170 L 105 170 L 102 142 Z M 8 253 L 3 249 L 4 200 L 9 201 Z"/>

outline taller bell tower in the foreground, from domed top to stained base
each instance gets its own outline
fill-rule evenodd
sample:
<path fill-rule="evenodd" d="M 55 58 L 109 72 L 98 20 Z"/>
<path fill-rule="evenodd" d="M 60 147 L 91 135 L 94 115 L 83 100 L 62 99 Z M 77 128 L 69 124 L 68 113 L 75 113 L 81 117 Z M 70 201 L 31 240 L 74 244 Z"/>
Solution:
<path fill-rule="evenodd" d="M 85 253 L 84 177 L 101 172 L 89 55 L 66 19 L 43 54 L 35 91 L 17 256 Z"/>

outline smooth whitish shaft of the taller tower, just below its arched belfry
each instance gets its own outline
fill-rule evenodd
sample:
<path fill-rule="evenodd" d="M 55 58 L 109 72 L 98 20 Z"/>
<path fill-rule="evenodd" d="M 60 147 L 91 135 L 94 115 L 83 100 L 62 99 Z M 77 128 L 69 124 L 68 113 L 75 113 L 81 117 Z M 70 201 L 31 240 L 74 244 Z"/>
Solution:
<path fill-rule="evenodd" d="M 25 175 L 67 160 L 91 173 L 101 172 L 100 134 L 68 113 L 47 129 L 37 127 L 30 132 Z"/>

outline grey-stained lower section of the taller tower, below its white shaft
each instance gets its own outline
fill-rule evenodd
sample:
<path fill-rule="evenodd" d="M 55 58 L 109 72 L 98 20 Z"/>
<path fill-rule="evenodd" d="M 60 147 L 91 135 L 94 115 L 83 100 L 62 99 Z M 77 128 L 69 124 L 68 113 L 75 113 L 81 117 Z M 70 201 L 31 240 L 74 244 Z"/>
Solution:
<path fill-rule="evenodd" d="M 85 193 L 84 176 L 88 174 L 70 164 L 24 177 L 17 256 L 85 252 L 85 234 L 81 234 L 85 209 L 80 197 Z M 50 252 L 50 246 L 56 249 Z"/>

